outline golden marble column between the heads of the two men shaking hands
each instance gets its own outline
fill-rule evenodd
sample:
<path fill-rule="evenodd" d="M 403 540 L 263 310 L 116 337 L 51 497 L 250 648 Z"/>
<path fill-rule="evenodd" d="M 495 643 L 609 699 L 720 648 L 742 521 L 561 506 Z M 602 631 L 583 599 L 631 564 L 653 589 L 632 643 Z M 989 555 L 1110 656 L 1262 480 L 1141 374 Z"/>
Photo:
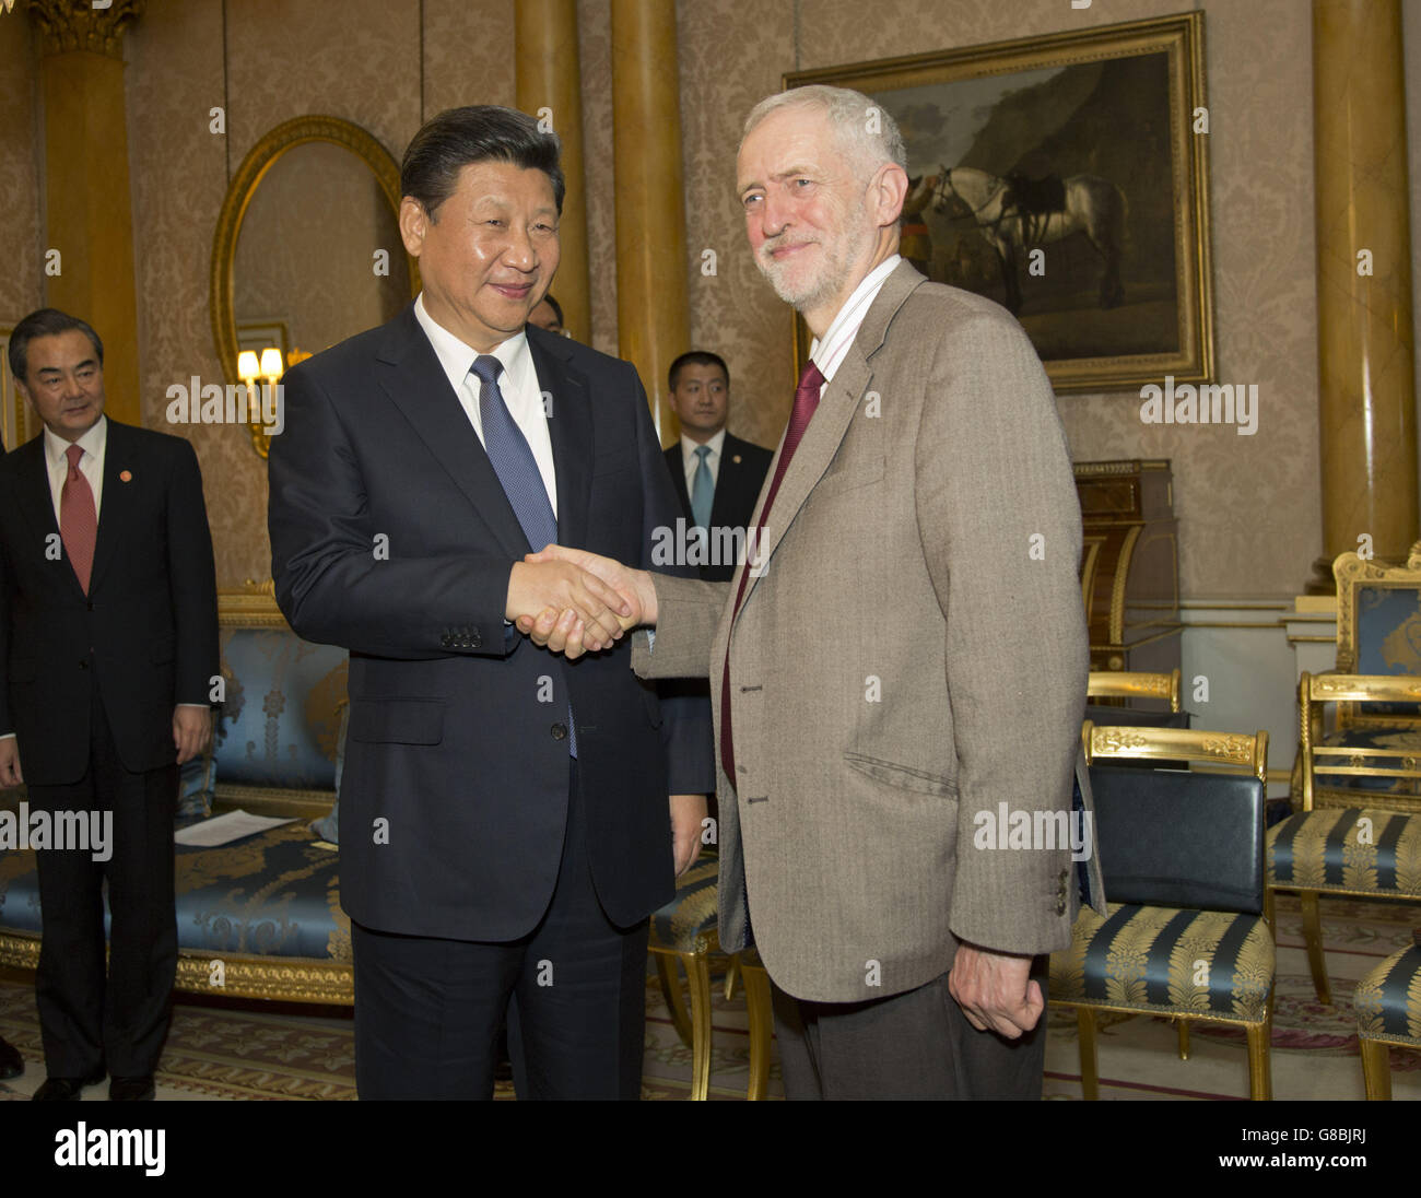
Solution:
<path fill-rule="evenodd" d="M 686 348 L 686 213 L 676 6 L 612 0 L 617 335 L 668 426 L 666 371 Z"/>

